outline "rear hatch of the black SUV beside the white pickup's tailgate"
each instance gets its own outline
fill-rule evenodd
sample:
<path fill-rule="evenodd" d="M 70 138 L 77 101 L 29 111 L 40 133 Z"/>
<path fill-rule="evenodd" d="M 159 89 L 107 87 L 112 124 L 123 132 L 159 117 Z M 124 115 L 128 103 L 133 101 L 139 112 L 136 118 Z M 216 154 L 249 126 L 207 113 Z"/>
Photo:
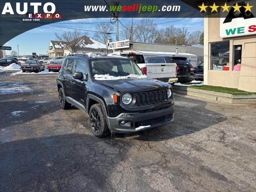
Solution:
<path fill-rule="evenodd" d="M 193 65 L 185 57 L 171 57 L 171 62 L 176 63 L 178 66 L 177 76 L 180 75 L 193 75 Z"/>

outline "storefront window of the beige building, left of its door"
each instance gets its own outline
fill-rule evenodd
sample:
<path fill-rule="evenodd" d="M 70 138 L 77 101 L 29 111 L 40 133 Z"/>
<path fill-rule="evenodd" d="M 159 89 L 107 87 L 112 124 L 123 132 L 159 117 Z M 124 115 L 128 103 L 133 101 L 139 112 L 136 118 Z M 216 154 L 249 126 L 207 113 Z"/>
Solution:
<path fill-rule="evenodd" d="M 211 70 L 229 69 L 229 41 L 211 44 Z"/>

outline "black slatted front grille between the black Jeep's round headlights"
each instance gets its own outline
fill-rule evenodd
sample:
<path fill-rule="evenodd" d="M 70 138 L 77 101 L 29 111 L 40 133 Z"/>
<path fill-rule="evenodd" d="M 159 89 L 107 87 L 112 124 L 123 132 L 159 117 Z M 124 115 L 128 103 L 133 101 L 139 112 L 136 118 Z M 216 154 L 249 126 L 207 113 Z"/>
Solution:
<path fill-rule="evenodd" d="M 165 101 L 167 101 L 167 90 L 136 94 L 136 102 L 138 106 L 156 104 Z"/>

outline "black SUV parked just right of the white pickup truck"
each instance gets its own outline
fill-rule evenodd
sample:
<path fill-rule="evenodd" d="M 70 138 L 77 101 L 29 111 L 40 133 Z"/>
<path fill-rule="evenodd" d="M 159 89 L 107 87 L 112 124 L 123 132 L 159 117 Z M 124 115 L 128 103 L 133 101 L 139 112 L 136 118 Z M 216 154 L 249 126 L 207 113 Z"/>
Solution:
<path fill-rule="evenodd" d="M 178 82 L 191 82 L 194 79 L 194 66 L 186 57 L 170 57 L 177 64 Z"/>

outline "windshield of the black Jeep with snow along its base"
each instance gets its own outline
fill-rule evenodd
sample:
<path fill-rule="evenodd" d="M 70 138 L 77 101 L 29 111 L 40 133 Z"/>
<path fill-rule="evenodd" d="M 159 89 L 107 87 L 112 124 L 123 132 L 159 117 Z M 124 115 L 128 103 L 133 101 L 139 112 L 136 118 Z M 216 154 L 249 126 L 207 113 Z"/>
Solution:
<path fill-rule="evenodd" d="M 129 59 L 95 59 L 91 61 L 90 65 L 93 77 L 95 75 L 109 75 L 114 77 L 129 76 L 130 74 L 143 75 L 136 63 Z"/>

